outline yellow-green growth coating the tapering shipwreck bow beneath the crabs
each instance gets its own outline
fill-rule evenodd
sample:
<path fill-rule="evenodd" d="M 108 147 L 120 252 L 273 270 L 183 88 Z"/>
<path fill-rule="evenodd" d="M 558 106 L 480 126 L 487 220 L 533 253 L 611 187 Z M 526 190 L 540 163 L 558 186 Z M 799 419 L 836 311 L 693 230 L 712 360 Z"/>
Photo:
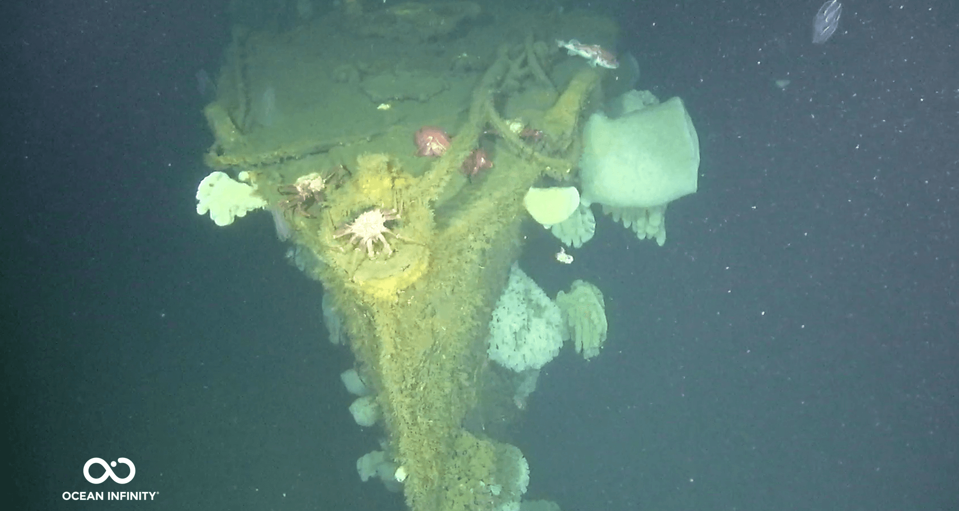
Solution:
<path fill-rule="evenodd" d="M 404 12 L 394 11 L 394 16 Z M 360 16 L 353 18 L 356 24 L 373 14 L 351 15 Z M 517 23 L 533 26 L 524 15 L 518 13 Z M 385 16 L 375 18 L 378 35 L 388 33 L 390 18 Z M 320 37 L 317 31 L 333 30 L 323 23 L 304 28 L 299 36 L 313 40 Z M 540 30 L 544 34 L 586 25 L 598 27 L 597 34 L 615 36 L 612 24 L 601 18 L 554 17 L 541 23 L 551 23 Z M 523 197 L 544 175 L 570 177 L 580 145 L 577 126 L 596 107 L 603 73 L 573 61 L 565 72 L 551 66 L 547 76 L 547 61 L 565 56 L 544 39 L 549 44 L 528 35 L 499 46 L 479 58 L 485 63 L 481 73 L 462 72 L 433 97 L 394 100 L 380 110 L 357 92 L 363 89 L 363 75 L 422 78 L 448 70 L 404 75 L 374 58 L 363 66 L 320 60 L 315 79 L 329 85 L 327 96 L 339 98 L 317 100 L 324 104 L 314 112 L 325 115 L 322 126 L 289 113 L 285 122 L 268 127 L 255 113 L 262 108 L 256 105 L 258 95 L 265 94 L 259 90 L 269 91 L 263 78 L 269 73 L 260 68 L 264 61 L 258 56 L 293 43 L 235 30 L 220 97 L 205 109 L 217 138 L 206 162 L 215 169 L 250 172 L 258 192 L 272 204 L 284 198 L 276 190 L 298 175 L 344 169 L 341 179 L 330 178 L 325 200 L 310 209 L 312 217 L 292 216 L 295 242 L 322 262 L 311 268 L 311 276 L 322 282 L 343 314 L 358 369 L 383 410 L 388 455 L 409 475 L 404 492 L 414 511 L 495 509 L 503 498 L 485 487 L 509 474 L 504 464 L 519 455 L 512 446 L 481 438 L 462 424 L 477 406 L 489 370 L 487 323 L 519 255 Z M 382 69 L 372 70 L 377 66 Z M 306 80 L 303 73 L 292 71 L 288 78 Z M 281 88 L 290 80 L 274 80 L 269 87 L 283 97 Z M 366 110 L 350 117 L 344 105 Z M 512 132 L 504 119 L 518 117 L 542 130 L 543 138 L 522 139 Z M 441 125 L 453 135 L 452 146 L 438 158 L 413 156 L 412 132 L 427 124 Z M 483 134 L 490 130 L 498 136 Z M 470 180 L 460 166 L 480 145 L 491 151 L 494 168 Z M 386 222 L 392 254 L 387 256 L 377 242 L 377 255 L 370 258 L 349 237 L 335 233 L 375 208 L 395 210 L 399 218 Z"/>

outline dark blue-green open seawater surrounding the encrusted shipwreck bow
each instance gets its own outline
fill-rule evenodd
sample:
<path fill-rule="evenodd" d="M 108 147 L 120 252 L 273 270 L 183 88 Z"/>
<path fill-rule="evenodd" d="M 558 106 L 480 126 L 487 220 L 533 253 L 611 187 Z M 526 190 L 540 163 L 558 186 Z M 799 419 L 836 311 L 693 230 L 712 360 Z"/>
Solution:
<path fill-rule="evenodd" d="M 662 248 L 606 218 L 572 267 L 528 246 L 550 294 L 604 291 L 610 337 L 541 377 L 527 497 L 959 508 L 959 10 L 846 2 L 813 45 L 818 1 L 582 6 L 618 17 L 641 88 L 686 101 L 702 175 Z M 356 475 L 377 434 L 346 411 L 320 290 L 266 215 L 194 211 L 195 73 L 218 66 L 225 7 L 4 10 L 5 498 L 129 508 L 59 497 L 91 490 L 86 459 L 126 456 L 122 489 L 160 492 L 143 507 L 401 509 Z"/>

